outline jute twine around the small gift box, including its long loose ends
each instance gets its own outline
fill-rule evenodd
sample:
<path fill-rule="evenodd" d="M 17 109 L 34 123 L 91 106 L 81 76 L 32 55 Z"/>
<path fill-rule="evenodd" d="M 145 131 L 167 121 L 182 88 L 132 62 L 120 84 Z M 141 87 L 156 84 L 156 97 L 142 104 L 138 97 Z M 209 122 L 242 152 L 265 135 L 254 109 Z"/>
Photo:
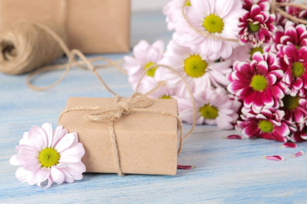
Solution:
<path fill-rule="evenodd" d="M 34 24 L 38 24 L 35 22 L 31 22 Z M 54 39 L 57 41 L 57 43 L 60 45 L 60 47 L 63 48 L 63 50 L 65 51 L 65 53 L 67 54 L 69 61 L 66 65 L 66 69 L 65 72 L 62 74 L 62 76 L 54 83 L 52 83 L 51 85 L 47 86 L 47 87 L 36 87 L 33 84 L 31 84 L 30 82 L 30 77 L 34 76 L 35 74 L 38 74 L 42 71 L 45 70 L 51 70 L 51 69 L 55 69 L 54 66 L 49 66 L 47 68 L 43 68 L 43 69 L 37 69 L 35 72 L 33 72 L 32 74 L 30 74 L 27 78 L 27 85 L 34 90 L 46 90 L 49 89 L 55 85 L 57 85 L 58 83 L 60 83 L 61 80 L 64 79 L 64 77 L 67 75 L 67 72 L 69 71 L 69 69 L 74 65 L 74 63 L 76 64 L 75 57 L 78 56 L 80 58 L 80 60 L 82 61 L 82 65 L 86 65 L 87 68 L 89 68 L 95 75 L 96 77 L 99 79 L 99 81 L 102 83 L 102 85 L 106 88 L 107 91 L 109 91 L 110 93 L 112 93 L 115 97 L 115 101 L 113 105 L 108 105 L 108 106 L 95 106 L 95 107 L 90 107 L 90 106 L 80 106 L 80 107 L 74 107 L 71 109 L 66 109 L 64 110 L 59 117 L 59 121 L 62 118 L 62 115 L 64 113 L 70 112 L 70 111 L 80 111 L 80 110 L 91 110 L 94 111 L 92 113 L 90 113 L 90 115 L 86 116 L 87 119 L 93 120 L 93 121 L 104 121 L 108 123 L 108 132 L 109 132 L 109 136 L 111 139 L 111 144 L 112 144 L 112 149 L 113 149 L 113 153 L 114 153 L 114 163 L 116 166 L 116 171 L 117 174 L 119 176 L 123 176 L 122 170 L 121 170 L 121 166 L 120 166 L 120 156 L 118 153 L 118 147 L 117 147 L 117 142 L 116 142 L 116 136 L 114 133 L 114 122 L 119 120 L 120 118 L 122 118 L 125 115 L 132 115 L 132 114 L 136 114 L 136 113 L 157 113 L 157 114 L 164 114 L 164 115 L 169 115 L 172 117 L 175 117 L 178 120 L 178 124 L 179 124 L 179 149 L 178 149 L 178 155 L 181 152 L 182 149 L 182 142 L 183 142 L 183 130 L 182 130 L 182 121 L 180 119 L 180 117 L 177 114 L 174 113 L 170 113 L 170 112 L 163 112 L 163 111 L 159 111 L 159 110 L 148 110 L 146 109 L 146 107 L 152 105 L 153 101 L 152 99 L 150 99 L 148 97 L 149 94 L 153 93 L 154 91 L 157 91 L 158 89 L 160 89 L 161 87 L 165 86 L 165 82 L 158 82 L 157 86 L 155 88 L 153 88 L 152 90 L 148 91 L 145 94 L 139 93 L 139 92 L 135 92 L 132 94 L 132 96 L 130 98 L 128 98 L 128 101 L 120 101 L 120 96 L 117 95 L 114 91 L 112 91 L 106 84 L 105 82 L 102 80 L 102 78 L 100 77 L 100 75 L 98 74 L 98 72 L 96 71 L 96 68 L 91 64 L 90 60 L 88 60 L 79 50 L 77 49 L 73 49 L 71 51 L 69 51 L 67 45 L 63 42 L 63 40 L 61 40 L 61 38 L 54 33 L 50 28 L 43 26 L 43 25 L 39 25 L 41 26 L 47 33 L 51 34 L 52 37 L 54 37 Z M 109 62 L 109 64 L 112 64 L 113 61 L 106 59 L 106 61 Z M 78 63 L 78 62 L 77 62 Z M 152 68 L 154 68 L 155 66 L 152 66 L 150 68 L 147 68 L 142 77 L 140 78 L 138 84 L 140 84 L 140 81 L 144 78 L 145 74 Z M 184 84 L 187 86 L 187 89 L 193 99 L 193 125 L 191 127 L 191 130 L 186 134 L 186 136 L 184 136 L 184 138 L 186 138 L 187 136 L 189 136 L 192 131 L 194 130 L 194 127 L 196 125 L 196 117 L 195 117 L 195 113 L 196 113 L 196 107 L 195 107 L 195 100 L 193 97 L 193 93 L 192 91 L 189 89 L 189 86 L 187 84 L 187 82 L 184 80 L 184 78 L 174 69 L 164 66 L 166 68 L 171 69 L 172 71 L 176 72 L 181 79 L 183 80 Z"/>

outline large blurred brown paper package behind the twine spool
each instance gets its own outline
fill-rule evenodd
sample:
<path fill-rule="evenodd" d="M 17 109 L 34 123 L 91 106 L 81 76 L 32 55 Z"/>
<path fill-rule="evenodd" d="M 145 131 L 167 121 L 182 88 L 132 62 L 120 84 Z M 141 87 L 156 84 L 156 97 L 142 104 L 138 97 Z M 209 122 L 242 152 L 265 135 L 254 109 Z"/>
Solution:
<path fill-rule="evenodd" d="M 129 51 L 130 0 L 0 0 L 0 31 L 20 19 L 64 24 L 83 53 Z"/>

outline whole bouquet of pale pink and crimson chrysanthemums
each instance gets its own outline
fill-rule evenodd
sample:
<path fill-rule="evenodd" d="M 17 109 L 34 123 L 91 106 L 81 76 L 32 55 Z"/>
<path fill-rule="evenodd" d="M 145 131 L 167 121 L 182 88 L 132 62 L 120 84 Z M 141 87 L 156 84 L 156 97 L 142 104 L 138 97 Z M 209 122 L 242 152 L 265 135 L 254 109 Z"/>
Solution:
<path fill-rule="evenodd" d="M 292 1 L 169 0 L 163 13 L 173 39 L 165 51 L 161 40 L 135 45 L 124 64 L 132 88 L 150 68 L 137 91 L 167 81 L 151 96 L 177 99 L 179 116 L 192 123 L 192 98 L 166 65 L 190 86 L 197 124 L 307 139 L 307 5 Z"/>

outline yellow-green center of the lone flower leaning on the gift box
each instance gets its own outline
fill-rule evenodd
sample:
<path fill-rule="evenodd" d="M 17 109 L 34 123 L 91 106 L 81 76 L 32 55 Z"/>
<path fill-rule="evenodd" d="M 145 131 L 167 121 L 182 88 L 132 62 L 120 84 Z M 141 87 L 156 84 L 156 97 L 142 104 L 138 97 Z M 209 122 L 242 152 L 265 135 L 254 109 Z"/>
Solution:
<path fill-rule="evenodd" d="M 59 153 L 53 148 L 43 149 L 38 155 L 39 162 L 46 168 L 50 168 L 51 166 L 58 164 L 59 159 Z"/>

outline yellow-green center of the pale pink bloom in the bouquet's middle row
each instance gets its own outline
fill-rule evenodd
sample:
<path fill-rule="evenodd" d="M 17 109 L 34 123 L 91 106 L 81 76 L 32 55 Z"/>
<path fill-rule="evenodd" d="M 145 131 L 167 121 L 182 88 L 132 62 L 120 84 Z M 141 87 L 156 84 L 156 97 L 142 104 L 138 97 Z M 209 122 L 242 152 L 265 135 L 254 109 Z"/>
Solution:
<path fill-rule="evenodd" d="M 192 55 L 184 60 L 184 71 L 191 77 L 203 76 L 208 64 L 199 55 Z"/>

